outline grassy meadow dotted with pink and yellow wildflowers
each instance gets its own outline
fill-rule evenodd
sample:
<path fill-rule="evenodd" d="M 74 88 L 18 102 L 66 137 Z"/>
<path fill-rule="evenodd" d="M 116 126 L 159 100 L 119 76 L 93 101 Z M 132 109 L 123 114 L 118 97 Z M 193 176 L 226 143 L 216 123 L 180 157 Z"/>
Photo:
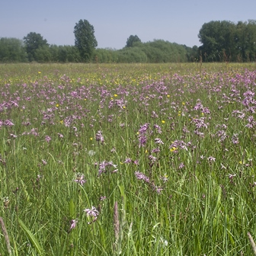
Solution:
<path fill-rule="evenodd" d="M 0 66 L 1 255 L 252 255 L 254 63 Z"/>

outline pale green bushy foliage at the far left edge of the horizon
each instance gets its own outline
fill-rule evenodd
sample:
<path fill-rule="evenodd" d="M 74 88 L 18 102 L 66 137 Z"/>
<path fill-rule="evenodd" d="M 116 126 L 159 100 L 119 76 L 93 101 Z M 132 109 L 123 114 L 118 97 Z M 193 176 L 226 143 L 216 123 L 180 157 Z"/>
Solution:
<path fill-rule="evenodd" d="M 26 62 L 27 53 L 22 40 L 0 38 L 0 62 Z"/>

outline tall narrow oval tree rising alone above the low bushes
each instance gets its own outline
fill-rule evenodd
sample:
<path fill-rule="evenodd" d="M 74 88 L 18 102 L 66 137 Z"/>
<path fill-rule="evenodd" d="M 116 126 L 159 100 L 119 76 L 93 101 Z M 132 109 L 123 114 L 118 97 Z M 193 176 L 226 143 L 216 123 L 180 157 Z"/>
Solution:
<path fill-rule="evenodd" d="M 80 20 L 75 24 L 75 46 L 78 48 L 83 61 L 88 62 L 94 53 L 98 42 L 94 37 L 94 27 L 86 20 Z"/>

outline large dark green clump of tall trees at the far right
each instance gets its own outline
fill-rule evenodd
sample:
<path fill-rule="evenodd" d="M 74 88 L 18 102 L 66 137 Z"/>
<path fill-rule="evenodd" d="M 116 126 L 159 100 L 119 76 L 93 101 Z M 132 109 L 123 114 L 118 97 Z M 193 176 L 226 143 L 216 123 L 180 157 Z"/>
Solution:
<path fill-rule="evenodd" d="M 256 21 L 210 21 L 203 24 L 198 37 L 203 61 L 254 61 L 256 59 Z"/>

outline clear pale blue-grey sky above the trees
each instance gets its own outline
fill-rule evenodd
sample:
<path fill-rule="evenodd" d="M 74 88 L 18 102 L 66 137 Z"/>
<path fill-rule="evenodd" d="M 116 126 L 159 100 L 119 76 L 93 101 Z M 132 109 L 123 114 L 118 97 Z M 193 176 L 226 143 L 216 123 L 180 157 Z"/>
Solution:
<path fill-rule="evenodd" d="M 74 45 L 82 19 L 94 27 L 98 48 L 116 50 L 130 35 L 200 46 L 204 23 L 256 19 L 256 0 L 0 0 L 0 9 L 0 37 L 36 32 L 50 44 Z"/>

